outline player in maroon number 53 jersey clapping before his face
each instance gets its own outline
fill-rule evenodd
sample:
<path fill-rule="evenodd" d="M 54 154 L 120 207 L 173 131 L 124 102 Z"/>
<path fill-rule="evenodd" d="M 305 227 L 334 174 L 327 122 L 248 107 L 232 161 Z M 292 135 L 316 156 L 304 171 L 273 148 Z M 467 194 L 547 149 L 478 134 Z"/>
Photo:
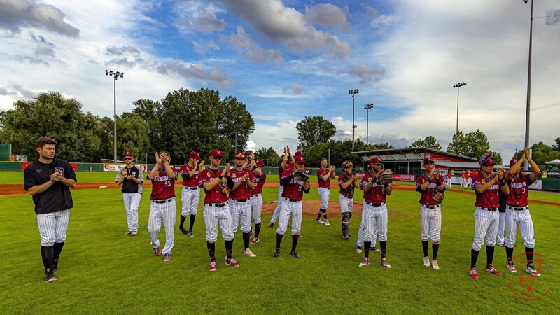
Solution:
<path fill-rule="evenodd" d="M 175 181 L 177 172 L 172 169 L 171 155 L 162 150 L 155 153 L 155 166 L 148 171 L 148 179 L 152 181 L 151 207 L 148 217 L 148 237 L 150 237 L 153 253 L 159 256 L 163 253 L 163 261 L 171 261 L 174 245 L 174 227 L 177 219 L 175 205 Z M 160 229 L 165 229 L 165 247 L 160 250 L 158 235 Z"/>

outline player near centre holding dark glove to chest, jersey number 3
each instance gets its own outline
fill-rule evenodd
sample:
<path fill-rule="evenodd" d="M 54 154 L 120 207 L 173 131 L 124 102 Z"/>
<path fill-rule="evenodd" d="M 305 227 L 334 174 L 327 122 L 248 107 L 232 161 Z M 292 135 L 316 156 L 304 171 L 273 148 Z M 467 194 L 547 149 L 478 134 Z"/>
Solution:
<path fill-rule="evenodd" d="M 295 165 L 293 171 L 286 170 L 280 180 L 281 186 L 284 187 L 282 192 L 282 207 L 278 229 L 276 230 L 276 250 L 272 254 L 274 257 L 280 255 L 280 244 L 286 229 L 288 228 L 288 220 L 292 219 L 292 251 L 290 255 L 293 258 L 301 258 L 295 252 L 297 240 L 300 239 L 300 230 L 302 225 L 302 200 L 303 193 L 309 193 L 309 178 L 300 179 L 297 176 L 298 170 L 304 170 L 305 160 L 302 155 L 295 157 Z"/>

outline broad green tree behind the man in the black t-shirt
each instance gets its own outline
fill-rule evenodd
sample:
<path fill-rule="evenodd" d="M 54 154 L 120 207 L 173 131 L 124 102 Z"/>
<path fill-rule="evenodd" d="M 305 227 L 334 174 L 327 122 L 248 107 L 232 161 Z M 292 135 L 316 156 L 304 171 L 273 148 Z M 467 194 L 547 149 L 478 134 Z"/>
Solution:
<path fill-rule="evenodd" d="M 90 162 L 92 152 L 97 151 L 97 119 L 83 113 L 76 99 L 48 92 L 31 101 L 15 102 L 14 107 L 3 115 L 0 140 L 12 144 L 15 153 L 36 157 L 35 140 L 42 136 L 58 142 L 57 157 L 73 162 Z"/>

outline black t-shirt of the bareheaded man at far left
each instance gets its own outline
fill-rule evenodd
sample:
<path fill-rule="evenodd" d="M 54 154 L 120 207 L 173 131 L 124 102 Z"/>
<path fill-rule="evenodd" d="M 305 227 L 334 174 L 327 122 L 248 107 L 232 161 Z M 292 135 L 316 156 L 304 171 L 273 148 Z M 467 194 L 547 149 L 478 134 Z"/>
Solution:
<path fill-rule="evenodd" d="M 27 165 L 23 171 L 25 190 L 50 181 L 50 175 L 54 172 L 62 172 L 66 179 L 76 179 L 76 173 L 66 160 L 52 159 L 50 164 L 44 164 L 38 160 Z M 74 207 L 70 189 L 63 183 L 56 182 L 38 195 L 33 196 L 36 214 L 48 214 L 50 212 L 62 211 Z"/>

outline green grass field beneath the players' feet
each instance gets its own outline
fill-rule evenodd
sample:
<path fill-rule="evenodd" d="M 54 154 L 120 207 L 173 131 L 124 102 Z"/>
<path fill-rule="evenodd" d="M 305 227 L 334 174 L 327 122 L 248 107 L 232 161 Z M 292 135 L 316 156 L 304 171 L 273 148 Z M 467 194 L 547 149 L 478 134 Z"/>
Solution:
<path fill-rule="evenodd" d="M 146 232 L 150 190 L 146 186 L 141 201 L 137 237 L 123 235 L 127 228 L 119 190 L 73 190 L 75 208 L 55 283 L 43 283 L 31 197 L 0 197 L 1 251 L 6 258 L 0 261 L 2 313 L 551 314 L 560 309 L 560 268 L 555 260 L 543 263 L 542 276 L 533 283 L 528 297 L 539 297 L 551 289 L 539 300 L 523 300 L 512 293 L 508 285 L 520 295 L 527 288 L 519 284 L 521 272 L 511 274 L 505 269 L 503 248 L 496 248 L 494 258 L 503 276 L 484 272 L 483 250 L 478 260 L 480 279 L 470 279 L 472 194 L 449 190 L 444 200 L 440 271 L 422 265 L 419 194 L 395 190 L 388 197 L 387 259 L 391 269 L 379 266 L 379 253 L 370 255 L 371 265 L 358 267 L 363 260 L 363 254 L 355 251 L 360 217 L 351 220 L 351 241 L 342 241 L 340 216 L 330 213 L 330 227 L 304 217 L 304 237 L 297 247 L 301 260 L 290 257 L 289 238 L 282 243 L 281 256 L 272 258 L 276 230 L 263 228 L 260 243 L 251 246 L 256 258 L 241 255 L 243 242 L 238 235 L 234 256 L 241 266 L 231 268 L 218 259 L 218 271 L 209 272 L 202 211 L 195 223 L 195 237 L 186 237 L 176 228 L 172 262 L 153 256 Z M 531 191 L 530 197 L 543 195 L 551 194 Z M 265 190 L 263 198 L 265 202 L 276 200 L 276 190 Z M 316 189 L 304 198 L 318 200 Z M 337 200 L 336 190 L 332 190 L 331 200 Z M 179 199 L 177 205 L 180 213 Z M 560 245 L 554 241 L 560 230 L 558 208 L 531 204 L 531 214 L 535 250 L 542 258 L 559 258 Z M 263 216 L 263 225 L 269 218 Z M 165 241 L 163 230 L 160 240 Z M 515 254 L 522 248 L 518 233 Z M 221 238 L 216 256 L 225 256 Z"/>

